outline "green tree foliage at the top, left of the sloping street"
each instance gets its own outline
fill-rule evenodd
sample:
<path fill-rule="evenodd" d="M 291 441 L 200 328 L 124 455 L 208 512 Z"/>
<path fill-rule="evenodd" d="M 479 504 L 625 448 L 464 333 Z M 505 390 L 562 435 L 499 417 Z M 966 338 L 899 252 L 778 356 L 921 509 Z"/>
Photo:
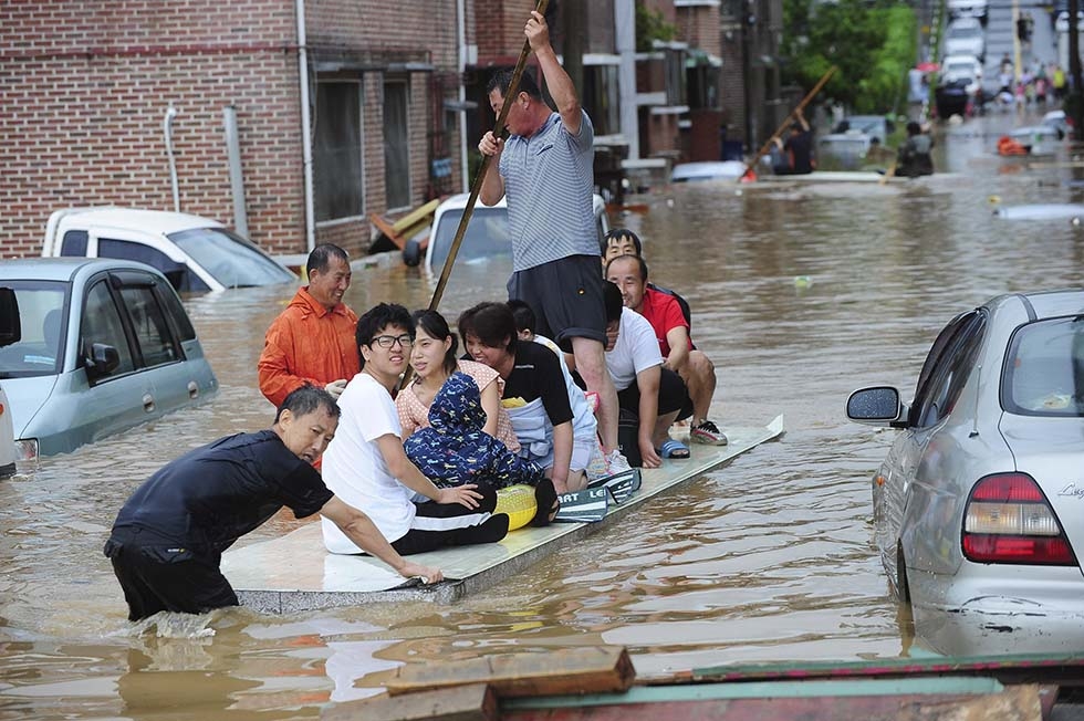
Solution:
<path fill-rule="evenodd" d="M 888 0 L 784 0 L 783 21 L 786 82 L 809 90 L 836 65 L 820 100 L 856 113 L 885 113 L 906 96 L 917 51 L 911 8 Z"/>

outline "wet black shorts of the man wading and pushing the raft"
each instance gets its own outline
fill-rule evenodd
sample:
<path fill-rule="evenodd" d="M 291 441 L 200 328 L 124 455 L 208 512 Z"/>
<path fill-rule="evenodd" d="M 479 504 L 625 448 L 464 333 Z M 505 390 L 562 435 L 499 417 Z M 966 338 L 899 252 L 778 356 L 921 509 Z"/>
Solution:
<path fill-rule="evenodd" d="M 142 620 L 161 610 L 205 614 L 237 606 L 233 587 L 219 571 L 219 558 L 188 550 L 140 547 L 117 542 L 105 544 L 113 573 L 128 602 L 128 620 Z"/>

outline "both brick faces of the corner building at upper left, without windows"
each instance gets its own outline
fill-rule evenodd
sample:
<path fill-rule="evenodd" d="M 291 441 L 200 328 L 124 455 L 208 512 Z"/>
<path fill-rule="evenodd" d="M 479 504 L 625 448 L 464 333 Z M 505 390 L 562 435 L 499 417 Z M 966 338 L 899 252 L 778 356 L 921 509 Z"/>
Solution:
<path fill-rule="evenodd" d="M 468 0 L 468 7 L 471 0 Z M 383 81 L 408 77 L 411 203 L 428 184 L 430 72 L 457 69 L 455 0 L 306 4 L 320 59 L 363 70 L 365 212 L 385 212 Z M 411 70 L 414 67 L 415 70 Z M 304 170 L 293 0 L 37 0 L 0 4 L 0 257 L 33 255 L 69 206 L 171 210 L 163 122 L 170 103 L 180 208 L 232 223 L 222 108 L 237 112 L 249 234 L 272 253 L 305 249 Z M 455 85 L 447 88 L 454 97 Z M 451 147 L 458 157 L 458 137 Z M 459 164 L 452 163 L 459 186 Z M 320 240 L 367 248 L 367 221 Z"/>

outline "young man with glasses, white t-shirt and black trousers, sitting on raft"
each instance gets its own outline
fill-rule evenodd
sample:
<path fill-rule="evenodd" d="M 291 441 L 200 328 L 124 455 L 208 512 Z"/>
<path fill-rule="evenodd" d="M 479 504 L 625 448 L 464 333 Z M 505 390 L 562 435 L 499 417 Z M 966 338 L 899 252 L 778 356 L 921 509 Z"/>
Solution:
<path fill-rule="evenodd" d="M 327 488 L 363 510 L 403 555 L 503 539 L 508 515 L 493 514 L 492 488 L 468 483 L 438 489 L 403 450 L 392 393 L 414 345 L 410 313 L 381 303 L 358 318 L 355 341 L 362 372 L 338 398 L 342 420 L 324 452 Z M 432 502 L 414 502 L 416 493 Z M 323 523 L 323 535 L 332 553 L 362 553 L 333 523 Z"/>

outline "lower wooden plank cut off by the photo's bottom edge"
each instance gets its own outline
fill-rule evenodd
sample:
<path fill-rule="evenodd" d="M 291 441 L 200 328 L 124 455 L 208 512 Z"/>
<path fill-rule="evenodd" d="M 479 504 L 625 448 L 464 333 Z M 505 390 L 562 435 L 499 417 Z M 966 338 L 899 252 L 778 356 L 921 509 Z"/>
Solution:
<path fill-rule="evenodd" d="M 382 696 L 325 708 L 321 721 L 499 721 L 497 696 L 470 683 L 395 698 Z"/>

